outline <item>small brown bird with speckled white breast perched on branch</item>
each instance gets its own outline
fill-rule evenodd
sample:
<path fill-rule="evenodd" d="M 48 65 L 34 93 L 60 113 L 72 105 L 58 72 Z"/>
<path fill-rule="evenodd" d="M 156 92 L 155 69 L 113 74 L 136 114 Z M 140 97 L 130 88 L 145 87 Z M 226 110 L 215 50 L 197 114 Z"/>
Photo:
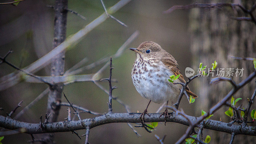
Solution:
<path fill-rule="evenodd" d="M 143 42 L 138 48 L 130 48 L 130 50 L 136 52 L 137 55 L 132 67 L 132 82 L 136 90 L 142 97 L 150 100 L 149 103 L 151 101 L 155 103 L 167 101 L 168 105 L 168 100 L 174 100 L 180 94 L 181 89 L 180 84 L 173 84 L 168 81 L 169 76 L 180 74 L 180 77 L 174 83 L 186 83 L 177 67 L 177 61 L 159 44 L 151 41 Z M 188 87 L 186 92 L 193 97 L 197 97 Z M 143 124 L 144 115 L 148 115 L 147 108 L 140 115 Z M 169 117 L 167 108 L 160 116 L 162 115 L 164 115 L 164 118 Z"/>

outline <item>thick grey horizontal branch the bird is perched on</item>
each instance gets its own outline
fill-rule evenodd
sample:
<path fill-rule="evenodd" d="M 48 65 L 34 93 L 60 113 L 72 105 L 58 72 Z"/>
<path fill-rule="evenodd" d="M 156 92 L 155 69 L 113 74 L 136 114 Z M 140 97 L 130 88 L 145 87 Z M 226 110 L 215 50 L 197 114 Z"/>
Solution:
<path fill-rule="evenodd" d="M 43 128 L 40 129 L 39 124 L 24 123 L 13 120 L 8 117 L 0 116 L 0 127 L 4 127 L 10 130 L 17 130 L 24 133 L 36 134 L 36 133 L 47 133 L 47 132 L 70 132 L 74 130 L 82 130 L 89 127 L 90 129 L 99 125 L 109 123 L 140 123 L 141 113 L 111 113 L 95 118 L 88 118 L 78 121 L 62 121 L 55 123 L 43 123 Z M 160 117 L 159 113 L 151 113 L 149 116 L 145 116 L 145 122 L 164 122 L 164 117 Z M 188 116 L 192 122 L 196 122 L 200 117 Z M 170 119 L 166 119 L 166 122 L 174 122 L 183 125 L 189 125 L 186 118 L 181 115 L 170 116 Z M 38 130 L 37 130 L 38 129 Z M 204 129 L 215 130 L 219 132 L 232 133 L 243 135 L 256 136 L 255 127 L 248 125 L 235 125 L 231 126 L 228 123 L 207 120 Z M 36 131 L 37 130 L 37 131 Z"/>

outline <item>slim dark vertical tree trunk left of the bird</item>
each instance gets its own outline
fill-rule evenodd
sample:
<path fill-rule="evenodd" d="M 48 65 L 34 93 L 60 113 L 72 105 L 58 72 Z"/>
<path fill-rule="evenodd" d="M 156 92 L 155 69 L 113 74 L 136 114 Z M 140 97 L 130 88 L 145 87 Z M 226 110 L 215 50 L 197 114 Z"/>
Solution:
<path fill-rule="evenodd" d="M 66 39 L 67 26 L 67 9 L 68 0 L 55 0 L 55 17 L 54 17 L 54 38 L 53 49 L 61 44 Z M 62 76 L 64 74 L 65 51 L 56 55 L 52 59 L 51 76 Z M 54 84 L 50 88 L 48 95 L 47 111 L 50 115 L 48 122 L 57 122 L 61 103 L 61 93 L 63 90 L 63 83 Z M 45 141 L 53 143 L 53 134 L 46 134 Z"/>

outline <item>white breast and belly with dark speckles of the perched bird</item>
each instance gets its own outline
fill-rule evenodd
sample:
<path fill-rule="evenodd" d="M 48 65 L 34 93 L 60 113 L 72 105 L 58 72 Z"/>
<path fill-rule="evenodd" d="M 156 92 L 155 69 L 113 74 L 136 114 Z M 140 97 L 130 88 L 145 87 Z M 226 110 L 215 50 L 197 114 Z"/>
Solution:
<path fill-rule="evenodd" d="M 164 103 L 180 94 L 180 84 L 172 84 L 168 81 L 171 75 L 173 74 L 163 63 L 157 67 L 150 67 L 146 63 L 146 66 L 140 65 L 139 68 L 134 64 L 132 69 L 132 81 L 136 90 L 142 97 L 155 103 Z"/>

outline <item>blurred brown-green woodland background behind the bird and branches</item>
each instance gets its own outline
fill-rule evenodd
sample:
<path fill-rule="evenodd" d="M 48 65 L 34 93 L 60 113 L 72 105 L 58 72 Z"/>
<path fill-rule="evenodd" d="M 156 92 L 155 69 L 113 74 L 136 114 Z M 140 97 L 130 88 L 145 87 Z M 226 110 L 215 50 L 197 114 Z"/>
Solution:
<path fill-rule="evenodd" d="M 1 0 L 2 2 L 9 2 Z M 117 0 L 104 1 L 107 8 L 116 4 Z M 132 84 L 131 69 L 136 55 L 130 51 L 130 47 L 137 47 L 144 41 L 155 41 L 177 60 L 179 68 L 185 75 L 185 68 L 191 67 L 195 71 L 199 63 L 211 64 L 216 60 L 219 68 L 244 68 L 242 77 L 234 77 L 238 83 L 248 76 L 254 69 L 252 61 L 231 59 L 229 56 L 255 57 L 256 50 L 256 26 L 249 21 L 232 20 L 231 16 L 243 16 L 239 9 L 216 8 L 212 10 L 191 9 L 176 10 L 170 14 L 163 11 L 173 5 L 187 5 L 194 1 L 180 0 L 133 0 L 113 14 L 118 20 L 124 22 L 124 27 L 115 20 L 108 18 L 102 24 L 94 28 L 75 46 L 66 50 L 65 70 L 74 66 L 80 60 L 87 58 L 90 64 L 102 57 L 110 56 L 132 35 L 136 30 L 139 36 L 126 48 L 123 55 L 113 59 L 112 78 L 118 82 L 113 85 L 118 89 L 113 91 L 113 96 L 127 104 L 132 112 L 143 112 L 148 100 L 142 98 Z M 212 3 L 222 1 L 197 1 L 200 3 Z M 227 1 L 225 1 L 227 2 Z M 228 1 L 230 3 L 240 1 Z M 253 5 L 252 0 L 243 1 L 246 8 Z M 3 57 L 10 49 L 14 52 L 7 58 L 9 62 L 24 68 L 52 50 L 54 11 L 47 5 L 54 5 L 52 0 L 24 1 L 18 6 L 0 5 L 0 55 Z M 92 20 L 104 12 L 100 0 L 72 0 L 68 2 L 68 8 L 81 15 L 86 20 L 68 12 L 67 37 L 84 28 Z M 79 74 L 96 73 L 103 65 Z M 14 72 L 12 67 L 2 64 L 0 76 Z M 46 66 L 35 73 L 38 76 L 49 76 L 50 67 Z M 104 70 L 101 78 L 106 78 L 109 70 Z M 192 116 L 200 116 L 201 110 L 208 111 L 214 104 L 223 98 L 231 89 L 231 85 L 220 83 L 210 85 L 212 77 L 199 77 L 189 84 L 191 91 L 199 98 L 189 104 L 183 97 L 180 109 Z M 187 79 L 186 79 L 187 80 Z M 108 89 L 107 82 L 100 82 Z M 237 105 L 245 105 L 246 98 L 251 97 L 255 83 L 248 84 L 240 90 L 235 98 L 242 100 Z M 22 108 L 27 106 L 41 92 L 47 88 L 46 84 L 20 82 L 0 92 L 0 107 L 4 111 L 0 114 L 6 116 L 17 104 L 23 100 Z M 84 108 L 105 113 L 108 110 L 108 95 L 92 82 L 77 82 L 64 87 L 63 92 L 73 104 Z M 29 123 L 38 123 L 41 115 L 46 111 L 47 96 L 30 108 L 17 120 Z M 66 102 L 62 97 L 62 101 Z M 173 101 L 175 103 L 176 101 Z M 148 112 L 154 113 L 161 104 L 151 103 Z M 22 109 L 19 108 L 16 114 Z M 252 105 L 252 109 L 256 108 Z M 64 121 L 67 117 L 67 107 L 62 107 L 58 120 Z M 230 122 L 231 119 L 224 114 L 228 107 L 217 111 L 211 119 Z M 160 112 L 162 112 L 161 110 Z M 113 112 L 126 112 L 125 108 L 113 100 Z M 14 114 L 15 115 L 15 114 Z M 83 113 L 81 118 L 95 117 L 92 114 Z M 133 124 L 134 125 L 134 124 Z M 250 124 L 255 126 L 255 124 Z M 167 135 L 166 143 L 176 142 L 186 131 L 187 126 L 176 123 L 158 124 L 156 131 L 148 133 L 144 128 L 135 128 L 142 137 L 137 137 L 132 129 L 125 123 L 105 124 L 92 128 L 89 135 L 90 143 L 158 143 L 155 134 L 159 137 Z M 85 130 L 76 131 L 79 135 Z M 211 143 L 227 143 L 230 134 L 204 130 L 204 139 L 207 135 L 212 138 Z M 56 143 L 84 143 L 85 137 L 80 140 L 72 132 L 55 133 Z M 34 135 L 40 138 L 40 135 Z M 31 140 L 28 134 L 14 134 L 4 137 L 2 143 L 27 143 Z M 243 141 L 240 141 L 243 140 Z M 255 141 L 252 136 L 236 136 L 234 143 L 250 143 Z"/>

